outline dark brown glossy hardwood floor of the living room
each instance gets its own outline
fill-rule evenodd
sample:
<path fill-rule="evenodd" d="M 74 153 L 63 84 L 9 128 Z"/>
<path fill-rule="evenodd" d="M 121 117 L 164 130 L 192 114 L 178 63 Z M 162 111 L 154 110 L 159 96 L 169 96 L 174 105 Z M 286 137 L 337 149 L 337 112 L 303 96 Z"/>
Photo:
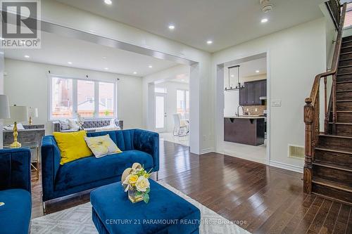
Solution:
<path fill-rule="evenodd" d="M 251 233 L 352 233 L 352 209 L 303 194 L 302 174 L 168 141 L 160 145 L 159 180 Z M 32 218 L 42 216 L 40 181 L 32 182 Z M 48 213 L 89 202 L 82 194 L 48 204 Z"/>

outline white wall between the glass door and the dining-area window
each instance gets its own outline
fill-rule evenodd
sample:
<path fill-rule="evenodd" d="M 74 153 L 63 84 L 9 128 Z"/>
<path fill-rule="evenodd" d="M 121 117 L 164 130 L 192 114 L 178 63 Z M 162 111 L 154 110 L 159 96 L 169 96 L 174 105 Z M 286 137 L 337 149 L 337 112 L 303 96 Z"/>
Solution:
<path fill-rule="evenodd" d="M 172 115 L 176 114 L 177 110 L 177 89 L 189 90 L 189 84 L 180 82 L 163 82 L 156 84 L 156 87 L 163 87 L 167 90 L 166 94 L 166 131 L 172 132 L 175 124 Z"/>

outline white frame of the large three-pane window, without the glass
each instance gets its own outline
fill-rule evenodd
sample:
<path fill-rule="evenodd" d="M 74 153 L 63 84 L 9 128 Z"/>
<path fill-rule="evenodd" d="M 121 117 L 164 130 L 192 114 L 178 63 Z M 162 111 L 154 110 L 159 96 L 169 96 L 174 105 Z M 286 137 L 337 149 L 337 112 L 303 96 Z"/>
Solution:
<path fill-rule="evenodd" d="M 77 118 L 76 112 L 77 112 L 77 80 L 83 80 L 83 81 L 87 81 L 87 82 L 94 82 L 94 109 L 95 109 L 95 113 L 94 113 L 94 117 L 84 117 L 84 119 L 111 119 L 111 118 L 118 118 L 118 79 L 116 79 L 115 82 L 113 81 L 106 81 L 103 79 L 84 79 L 84 78 L 79 78 L 79 77 L 66 77 L 63 75 L 56 75 L 56 74 L 49 74 L 48 75 L 48 119 L 49 122 L 53 122 L 59 119 L 68 119 L 68 117 L 61 117 L 61 118 L 54 118 L 51 116 L 52 113 L 52 82 L 53 82 L 53 78 L 60 78 L 60 79 L 72 79 L 73 80 L 73 116 L 72 118 L 75 119 Z M 109 116 L 109 117 L 103 117 L 100 116 L 99 117 L 99 82 L 102 83 L 111 83 L 113 84 L 114 88 L 114 93 L 113 93 L 113 100 L 115 100 L 114 105 L 113 105 L 113 117 Z M 98 100 L 98 101 L 96 101 Z M 96 111 L 98 110 L 98 111 Z"/>

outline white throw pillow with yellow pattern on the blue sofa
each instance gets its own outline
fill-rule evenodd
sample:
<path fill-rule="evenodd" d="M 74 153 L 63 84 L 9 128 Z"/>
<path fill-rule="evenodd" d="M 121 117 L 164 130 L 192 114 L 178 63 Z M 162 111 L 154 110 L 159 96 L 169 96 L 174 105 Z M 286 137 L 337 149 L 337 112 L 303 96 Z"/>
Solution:
<path fill-rule="evenodd" d="M 107 134 L 105 136 L 84 137 L 95 157 L 103 157 L 122 152 Z"/>

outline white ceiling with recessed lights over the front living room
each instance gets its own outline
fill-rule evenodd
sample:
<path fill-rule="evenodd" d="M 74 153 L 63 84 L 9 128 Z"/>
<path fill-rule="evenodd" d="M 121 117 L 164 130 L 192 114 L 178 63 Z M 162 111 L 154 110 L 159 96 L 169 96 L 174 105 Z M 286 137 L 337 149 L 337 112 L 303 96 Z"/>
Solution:
<path fill-rule="evenodd" d="M 320 18 L 324 2 L 271 0 L 274 9 L 265 14 L 259 0 L 112 0 L 110 6 L 103 0 L 57 1 L 209 52 Z M 206 44 L 209 39 L 213 44 Z"/>

